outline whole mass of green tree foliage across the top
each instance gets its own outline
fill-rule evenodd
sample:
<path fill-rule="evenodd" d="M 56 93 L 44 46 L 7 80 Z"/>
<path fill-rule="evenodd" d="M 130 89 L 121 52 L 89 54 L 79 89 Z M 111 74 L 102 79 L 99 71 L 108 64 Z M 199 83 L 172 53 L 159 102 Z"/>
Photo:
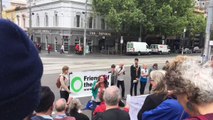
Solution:
<path fill-rule="evenodd" d="M 205 30 L 205 18 L 193 13 L 194 0 L 93 0 L 93 8 L 117 32 L 140 25 L 143 33 L 164 36 L 182 35 L 189 26 L 193 33 Z"/>

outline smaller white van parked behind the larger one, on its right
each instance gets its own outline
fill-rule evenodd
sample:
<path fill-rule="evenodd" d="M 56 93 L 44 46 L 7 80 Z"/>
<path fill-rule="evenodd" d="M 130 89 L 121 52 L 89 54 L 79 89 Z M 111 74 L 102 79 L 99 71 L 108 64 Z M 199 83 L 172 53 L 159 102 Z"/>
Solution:
<path fill-rule="evenodd" d="M 151 44 L 150 49 L 152 50 L 152 53 L 158 53 L 158 54 L 169 54 L 170 49 L 168 48 L 168 45 L 163 44 Z"/>

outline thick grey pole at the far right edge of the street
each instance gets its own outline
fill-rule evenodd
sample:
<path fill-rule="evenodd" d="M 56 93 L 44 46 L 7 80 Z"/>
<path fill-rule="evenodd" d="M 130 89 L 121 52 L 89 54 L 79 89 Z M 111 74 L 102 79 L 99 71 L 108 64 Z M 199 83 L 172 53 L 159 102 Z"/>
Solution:
<path fill-rule="evenodd" d="M 205 63 L 210 59 L 210 34 L 211 34 L 211 26 L 213 24 L 213 0 L 209 1 L 208 6 L 208 16 L 207 16 L 207 25 L 206 25 L 206 36 L 205 36 L 205 46 L 204 46 L 204 52 L 203 52 L 203 58 L 202 61 Z"/>

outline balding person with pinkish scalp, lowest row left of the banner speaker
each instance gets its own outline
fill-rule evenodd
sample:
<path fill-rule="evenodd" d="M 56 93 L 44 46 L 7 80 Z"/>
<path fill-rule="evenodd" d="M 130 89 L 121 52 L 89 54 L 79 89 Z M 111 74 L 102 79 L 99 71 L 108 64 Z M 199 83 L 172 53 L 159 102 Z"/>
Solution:
<path fill-rule="evenodd" d="M 65 99 L 61 98 L 56 101 L 55 109 L 57 111 L 54 120 L 75 120 L 74 117 L 69 117 L 66 115 L 65 111 L 67 108 L 67 102 Z"/>

